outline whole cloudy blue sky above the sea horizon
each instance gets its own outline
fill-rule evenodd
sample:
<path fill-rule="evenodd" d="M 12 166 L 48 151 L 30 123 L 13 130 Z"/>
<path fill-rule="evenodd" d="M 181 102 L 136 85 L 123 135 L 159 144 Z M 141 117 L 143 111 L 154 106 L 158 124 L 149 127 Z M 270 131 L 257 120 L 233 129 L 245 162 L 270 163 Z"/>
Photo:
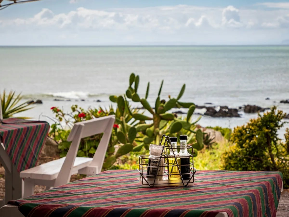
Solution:
<path fill-rule="evenodd" d="M 42 0 L 0 10 L 0 45 L 242 45 L 288 39 L 289 1 Z"/>

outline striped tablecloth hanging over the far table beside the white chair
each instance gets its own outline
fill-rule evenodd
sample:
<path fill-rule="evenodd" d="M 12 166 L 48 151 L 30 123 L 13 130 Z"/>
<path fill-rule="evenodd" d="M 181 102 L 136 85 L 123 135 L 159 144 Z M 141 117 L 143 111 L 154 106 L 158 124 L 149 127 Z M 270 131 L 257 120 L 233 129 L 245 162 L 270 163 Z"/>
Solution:
<path fill-rule="evenodd" d="M 0 136 L 5 151 L 18 172 L 36 165 L 48 130 L 47 122 L 3 119 Z"/>

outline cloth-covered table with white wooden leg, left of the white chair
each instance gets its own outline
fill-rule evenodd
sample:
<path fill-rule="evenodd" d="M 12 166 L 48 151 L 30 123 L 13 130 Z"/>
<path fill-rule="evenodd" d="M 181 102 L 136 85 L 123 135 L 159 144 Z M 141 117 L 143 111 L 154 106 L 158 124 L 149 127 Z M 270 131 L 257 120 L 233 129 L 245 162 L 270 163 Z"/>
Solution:
<path fill-rule="evenodd" d="M 0 126 L 0 162 L 5 169 L 4 203 L 22 197 L 19 173 L 37 164 L 49 130 L 44 121 L 3 119 Z"/>

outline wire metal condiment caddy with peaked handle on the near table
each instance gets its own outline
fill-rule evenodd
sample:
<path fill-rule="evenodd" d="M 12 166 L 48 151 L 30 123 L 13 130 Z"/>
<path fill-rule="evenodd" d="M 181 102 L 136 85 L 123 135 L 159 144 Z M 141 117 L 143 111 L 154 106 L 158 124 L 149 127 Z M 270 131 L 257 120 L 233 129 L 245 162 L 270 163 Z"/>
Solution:
<path fill-rule="evenodd" d="M 164 144 L 162 144 L 164 140 Z M 143 187 L 161 187 L 161 186 L 192 186 L 194 185 L 194 174 L 196 173 L 196 169 L 194 168 L 194 156 L 193 154 L 193 147 L 187 145 L 187 147 L 182 147 L 182 148 L 186 148 L 187 150 L 191 150 L 192 154 L 189 154 L 189 158 L 190 158 L 190 162 L 189 164 L 186 165 L 179 165 L 179 163 L 177 162 L 177 157 L 179 158 L 179 156 L 175 155 L 174 152 L 174 148 L 172 146 L 171 143 L 171 139 L 170 137 L 166 136 L 165 134 L 162 135 L 162 138 L 160 140 L 160 144 L 159 146 L 162 147 L 162 152 L 161 155 L 159 157 L 149 157 L 149 155 L 139 155 L 138 156 L 138 160 L 139 160 L 139 169 L 137 169 L 137 171 L 140 174 L 140 177 L 138 178 L 138 180 L 140 181 L 141 185 Z M 177 148 L 181 148 L 180 146 L 177 146 Z M 168 162 L 168 150 L 170 150 L 170 152 L 173 152 L 173 157 L 175 159 L 175 163 L 176 165 L 174 167 L 177 167 L 177 173 L 174 173 L 174 175 L 179 175 L 180 176 L 180 180 L 169 180 L 169 171 L 173 166 L 169 165 Z M 150 166 L 149 165 L 149 160 L 152 159 L 157 159 L 158 160 L 158 166 Z M 163 165 L 161 165 L 163 162 Z M 181 166 L 190 166 L 190 179 L 184 180 L 181 174 Z M 155 175 L 149 175 L 147 174 L 148 170 L 154 170 Z M 158 174 L 158 171 L 161 170 L 161 174 Z M 188 175 L 188 173 L 183 173 L 183 175 Z"/>

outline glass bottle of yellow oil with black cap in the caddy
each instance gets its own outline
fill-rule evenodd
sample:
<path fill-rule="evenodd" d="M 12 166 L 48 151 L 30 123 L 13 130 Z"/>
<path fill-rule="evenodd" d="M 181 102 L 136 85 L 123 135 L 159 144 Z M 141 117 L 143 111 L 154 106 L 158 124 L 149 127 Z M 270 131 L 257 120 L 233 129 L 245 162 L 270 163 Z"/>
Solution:
<path fill-rule="evenodd" d="M 181 175 L 179 173 L 179 169 L 177 166 L 177 163 L 178 163 L 178 165 L 181 164 L 181 159 L 178 156 L 178 149 L 177 149 L 178 138 L 177 137 L 170 137 L 170 139 L 171 139 L 171 143 L 173 146 L 173 150 L 170 149 L 170 154 L 168 155 L 168 180 L 180 180 Z M 173 151 L 175 153 L 177 161 L 174 157 Z"/>

